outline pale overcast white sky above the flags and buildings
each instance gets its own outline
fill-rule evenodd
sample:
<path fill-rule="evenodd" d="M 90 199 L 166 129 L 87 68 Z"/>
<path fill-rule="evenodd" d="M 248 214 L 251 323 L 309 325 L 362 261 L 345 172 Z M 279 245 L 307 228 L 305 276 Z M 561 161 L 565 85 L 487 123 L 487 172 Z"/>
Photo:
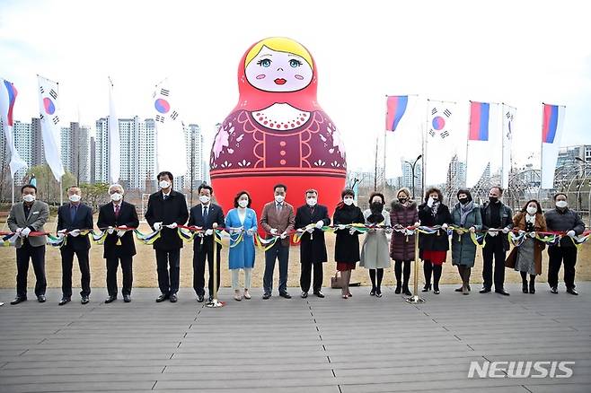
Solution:
<path fill-rule="evenodd" d="M 61 118 L 91 126 L 108 115 L 109 75 L 119 118 L 154 117 L 154 85 L 168 78 L 183 121 L 203 130 L 207 157 L 216 123 L 238 100 L 243 52 L 285 36 L 315 59 L 318 100 L 349 146 L 349 169 L 373 168 L 387 94 L 455 101 L 461 132 L 469 100 L 506 102 L 517 109 L 513 155 L 525 163 L 539 157 L 542 102 L 567 107 L 562 145 L 591 144 L 588 8 L 555 0 L 0 0 L 0 77 L 19 91 L 14 118 L 39 115 L 41 74 L 59 82 Z"/>

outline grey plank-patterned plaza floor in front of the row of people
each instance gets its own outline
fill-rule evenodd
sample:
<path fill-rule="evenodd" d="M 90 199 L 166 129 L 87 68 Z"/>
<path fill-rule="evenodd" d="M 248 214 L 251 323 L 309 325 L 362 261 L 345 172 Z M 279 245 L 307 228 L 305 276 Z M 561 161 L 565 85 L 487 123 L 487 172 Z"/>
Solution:
<path fill-rule="evenodd" d="M 591 391 L 591 283 L 577 297 L 547 284 L 535 294 L 509 284 L 508 297 L 477 289 L 443 285 L 412 305 L 390 287 L 381 299 L 366 287 L 348 300 L 290 288 L 291 300 L 263 301 L 259 289 L 240 302 L 224 288 L 221 309 L 189 288 L 175 304 L 155 303 L 155 288 L 104 304 L 97 288 L 89 304 L 75 296 L 63 307 L 57 289 L 44 304 L 30 294 L 17 306 L 4 289 L 0 392 Z M 472 361 L 575 363 L 568 379 L 468 378 Z"/>

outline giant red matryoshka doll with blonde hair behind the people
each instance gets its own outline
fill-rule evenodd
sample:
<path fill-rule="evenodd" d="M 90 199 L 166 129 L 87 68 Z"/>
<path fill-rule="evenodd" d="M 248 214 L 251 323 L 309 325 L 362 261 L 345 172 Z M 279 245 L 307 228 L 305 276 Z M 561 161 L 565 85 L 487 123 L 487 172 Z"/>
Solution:
<path fill-rule="evenodd" d="M 316 100 L 318 74 L 308 50 L 293 39 L 269 38 L 244 53 L 238 66 L 240 98 L 218 128 L 210 175 L 227 211 L 241 190 L 257 214 L 287 186 L 286 201 L 303 205 L 306 189 L 332 212 L 345 187 L 345 147 Z"/>

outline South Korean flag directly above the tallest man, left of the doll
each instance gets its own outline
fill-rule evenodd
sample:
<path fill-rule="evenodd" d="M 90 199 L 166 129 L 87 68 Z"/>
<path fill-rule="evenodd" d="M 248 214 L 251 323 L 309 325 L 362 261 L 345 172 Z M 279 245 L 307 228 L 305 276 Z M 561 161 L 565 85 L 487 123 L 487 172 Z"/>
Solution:
<path fill-rule="evenodd" d="M 168 170 L 177 177 L 187 173 L 187 145 L 184 127 L 173 103 L 167 81 L 156 84 L 153 94 L 156 165 L 158 171 Z"/>

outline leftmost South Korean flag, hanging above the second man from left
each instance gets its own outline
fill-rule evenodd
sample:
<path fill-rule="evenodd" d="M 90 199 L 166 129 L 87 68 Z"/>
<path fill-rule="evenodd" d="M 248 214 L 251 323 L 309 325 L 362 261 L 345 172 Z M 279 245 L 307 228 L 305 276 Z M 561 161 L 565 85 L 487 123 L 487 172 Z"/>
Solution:
<path fill-rule="evenodd" d="M 57 82 L 37 75 L 39 82 L 39 110 L 45 160 L 57 181 L 64 176 L 61 159 L 61 127 L 59 119 L 59 90 Z"/>

